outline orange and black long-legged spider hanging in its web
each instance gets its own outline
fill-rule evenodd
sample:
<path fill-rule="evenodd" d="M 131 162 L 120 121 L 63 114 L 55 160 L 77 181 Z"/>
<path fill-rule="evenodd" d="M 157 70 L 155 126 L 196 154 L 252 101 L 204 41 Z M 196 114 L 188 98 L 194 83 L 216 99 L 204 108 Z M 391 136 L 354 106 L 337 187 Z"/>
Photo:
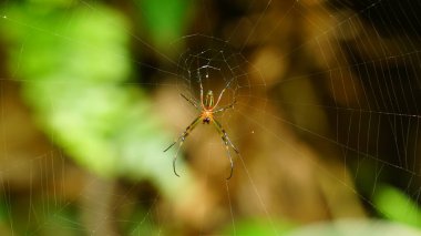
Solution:
<path fill-rule="evenodd" d="M 233 81 L 233 80 L 232 80 Z M 185 129 L 185 131 L 178 136 L 177 140 L 174 141 L 174 143 L 172 143 L 166 150 L 164 150 L 164 152 L 168 151 L 172 146 L 174 146 L 177 142 L 179 142 L 178 144 L 178 150 L 177 152 L 175 153 L 174 155 L 174 158 L 173 158 L 173 170 L 174 170 L 174 174 L 176 176 L 179 177 L 179 175 L 177 174 L 176 170 L 175 170 L 175 162 L 177 160 L 177 155 L 178 155 L 178 151 L 179 148 L 182 147 L 184 141 L 186 140 L 186 137 L 188 136 L 188 134 L 196 127 L 196 125 L 202 121 L 203 124 L 214 124 L 216 130 L 218 131 L 220 137 L 223 138 L 223 142 L 224 142 L 224 145 L 225 145 L 225 148 L 227 151 L 227 155 L 228 155 L 228 158 L 229 158 L 229 163 L 230 163 L 230 173 L 229 173 L 229 176 L 227 177 L 227 179 L 229 179 L 232 176 L 233 176 L 233 168 L 234 168 L 234 163 L 233 163 L 233 158 L 230 156 L 230 153 L 229 153 L 229 146 L 233 147 L 233 150 L 239 154 L 238 150 L 234 146 L 234 144 L 230 142 L 227 133 L 225 132 L 224 127 L 220 125 L 220 123 L 218 121 L 215 120 L 214 117 L 214 114 L 216 113 L 220 113 L 220 112 L 224 112 L 225 110 L 228 110 L 228 109 L 233 109 L 234 107 L 234 104 L 236 103 L 236 101 L 234 100 L 233 103 L 230 103 L 229 105 L 227 106 L 223 106 L 220 109 L 217 109 L 218 106 L 218 103 L 225 92 L 225 90 L 229 86 L 230 82 L 229 81 L 227 83 L 227 85 L 220 91 L 220 94 L 218 96 L 218 100 L 216 101 L 216 103 L 214 103 L 214 93 L 212 92 L 212 90 L 209 90 L 206 94 L 206 99 L 205 101 L 203 100 L 203 85 L 202 85 L 202 81 L 201 81 L 201 103 L 197 104 L 194 100 L 192 99 L 188 99 L 187 96 L 185 96 L 184 94 L 181 94 L 187 102 L 189 102 L 197 111 L 201 112 L 201 114 Z"/>

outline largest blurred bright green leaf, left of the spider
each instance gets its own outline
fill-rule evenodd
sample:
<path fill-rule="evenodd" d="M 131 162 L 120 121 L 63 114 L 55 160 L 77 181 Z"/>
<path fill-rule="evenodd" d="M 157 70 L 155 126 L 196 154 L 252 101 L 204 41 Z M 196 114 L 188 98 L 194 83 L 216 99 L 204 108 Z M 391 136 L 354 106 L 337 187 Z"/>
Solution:
<path fill-rule="evenodd" d="M 10 3 L 4 11 L 10 71 L 52 141 L 102 176 L 150 179 L 174 194 L 183 181 L 171 171 L 174 151 L 163 153 L 170 134 L 131 80 L 138 75 L 126 19 L 101 4 L 50 1 Z"/>

